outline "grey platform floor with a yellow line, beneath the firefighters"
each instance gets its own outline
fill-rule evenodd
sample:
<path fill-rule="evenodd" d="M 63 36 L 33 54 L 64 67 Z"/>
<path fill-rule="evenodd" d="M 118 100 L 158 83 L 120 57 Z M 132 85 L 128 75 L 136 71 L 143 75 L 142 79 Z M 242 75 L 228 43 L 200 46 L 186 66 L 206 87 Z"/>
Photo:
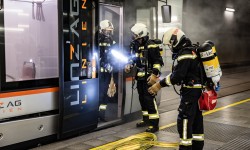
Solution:
<path fill-rule="evenodd" d="M 216 109 L 204 115 L 204 150 L 250 149 L 250 67 L 223 69 L 221 91 Z M 164 88 L 160 112 L 158 141 L 178 142 L 176 130 L 179 97 L 173 88 Z M 72 139 L 43 145 L 33 150 L 85 150 L 144 132 L 136 128 L 138 120 L 88 133 Z M 151 147 L 150 149 L 173 149 Z"/>

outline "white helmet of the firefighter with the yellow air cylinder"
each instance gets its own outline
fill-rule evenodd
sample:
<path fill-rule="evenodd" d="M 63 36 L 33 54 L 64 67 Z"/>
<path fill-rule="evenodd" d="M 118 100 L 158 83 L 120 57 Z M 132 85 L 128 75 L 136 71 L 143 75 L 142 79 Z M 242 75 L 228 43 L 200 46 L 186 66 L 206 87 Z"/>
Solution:
<path fill-rule="evenodd" d="M 176 47 L 184 37 L 185 33 L 181 29 L 171 28 L 163 34 L 162 43 Z"/>

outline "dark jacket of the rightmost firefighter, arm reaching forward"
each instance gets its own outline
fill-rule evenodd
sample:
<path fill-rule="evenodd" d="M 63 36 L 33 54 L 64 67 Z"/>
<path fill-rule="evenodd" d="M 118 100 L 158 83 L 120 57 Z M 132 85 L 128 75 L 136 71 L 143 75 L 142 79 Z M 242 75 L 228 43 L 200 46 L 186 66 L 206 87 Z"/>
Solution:
<path fill-rule="evenodd" d="M 162 87 L 169 85 L 183 85 L 193 87 L 197 85 L 201 87 L 201 65 L 195 52 L 195 47 L 182 48 L 176 56 L 177 65 L 173 67 L 172 73 L 160 81 Z"/>

